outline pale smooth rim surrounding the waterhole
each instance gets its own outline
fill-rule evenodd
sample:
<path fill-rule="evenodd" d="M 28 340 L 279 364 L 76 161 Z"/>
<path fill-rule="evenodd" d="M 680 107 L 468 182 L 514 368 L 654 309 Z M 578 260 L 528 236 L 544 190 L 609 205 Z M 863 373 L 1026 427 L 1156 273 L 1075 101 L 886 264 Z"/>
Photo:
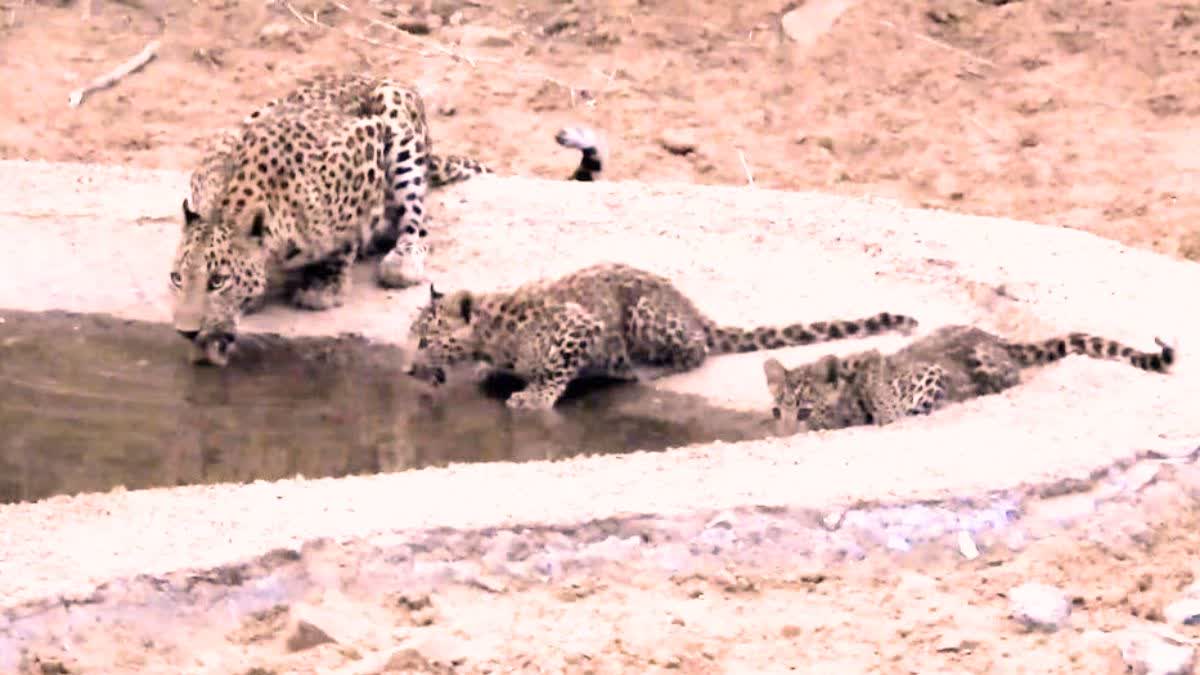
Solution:
<path fill-rule="evenodd" d="M 167 318 L 182 174 L 0 162 L 0 177 L 11 195 L 0 205 L 7 244 L 0 250 L 0 307 Z M 1200 282 L 1195 263 L 1080 232 L 766 190 L 488 179 L 440 193 L 433 213 L 442 227 L 437 279 L 446 289 L 510 287 L 623 261 L 677 280 L 722 322 L 890 310 L 917 316 L 923 330 L 950 321 L 1022 338 L 1088 330 L 1140 348 L 1162 335 L 1180 345 L 1182 359 L 1162 377 L 1072 358 L 1030 374 L 1004 395 L 882 430 L 0 507 L 4 602 L 82 591 L 113 577 L 210 567 L 314 537 L 938 498 L 1087 476 L 1138 452 L 1200 443 L 1200 374 L 1188 358 L 1200 321 L 1178 305 Z M 395 339 L 426 293 L 385 293 L 364 281 L 338 310 L 271 307 L 246 323 L 283 334 Z M 798 362 L 869 344 L 894 348 L 902 339 L 784 357 Z M 714 359 L 656 386 L 766 413 L 762 358 Z"/>

